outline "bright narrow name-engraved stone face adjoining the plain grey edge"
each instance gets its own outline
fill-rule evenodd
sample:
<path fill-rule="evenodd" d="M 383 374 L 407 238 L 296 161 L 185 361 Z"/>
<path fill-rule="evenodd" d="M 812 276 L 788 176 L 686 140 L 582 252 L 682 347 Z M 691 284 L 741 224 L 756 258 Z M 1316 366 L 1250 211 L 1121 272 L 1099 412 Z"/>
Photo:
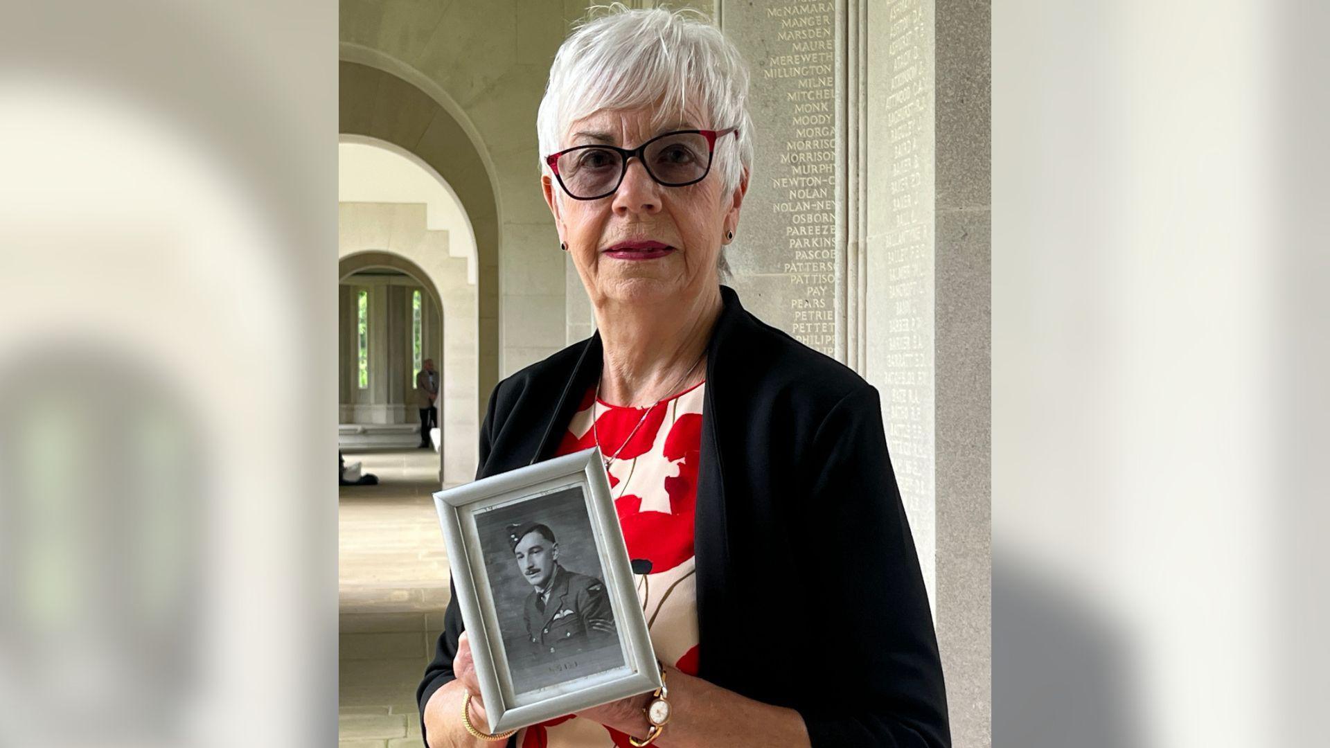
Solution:
<path fill-rule="evenodd" d="M 872 178 L 862 374 L 882 394 L 891 465 L 936 610 L 932 3 L 871 3 L 867 23 Z"/>

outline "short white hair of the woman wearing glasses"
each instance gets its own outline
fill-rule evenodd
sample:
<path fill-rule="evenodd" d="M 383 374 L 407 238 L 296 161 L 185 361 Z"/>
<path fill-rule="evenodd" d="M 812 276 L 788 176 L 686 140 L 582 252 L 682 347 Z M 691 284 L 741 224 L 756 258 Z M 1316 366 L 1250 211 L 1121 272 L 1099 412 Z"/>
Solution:
<path fill-rule="evenodd" d="M 593 7 L 549 68 L 536 116 L 541 173 L 549 172 L 544 157 L 564 148 L 564 132 L 577 120 L 605 109 L 654 106 L 653 124 L 664 126 L 692 109 L 705 118 L 700 129 L 739 130 L 717 141 L 712 162 L 729 196 L 753 165 L 747 89 L 739 51 L 701 12 Z"/>

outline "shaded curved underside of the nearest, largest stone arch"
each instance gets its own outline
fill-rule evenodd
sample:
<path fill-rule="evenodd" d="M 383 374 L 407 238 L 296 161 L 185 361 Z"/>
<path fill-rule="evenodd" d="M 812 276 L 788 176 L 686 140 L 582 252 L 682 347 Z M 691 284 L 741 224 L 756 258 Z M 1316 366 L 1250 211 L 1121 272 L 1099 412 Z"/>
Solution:
<path fill-rule="evenodd" d="M 480 393 L 499 382 L 499 206 L 481 148 L 443 105 L 388 72 L 340 63 L 340 132 L 402 148 L 446 180 L 471 220 L 476 240 Z M 487 398 L 477 398 L 476 422 Z"/>

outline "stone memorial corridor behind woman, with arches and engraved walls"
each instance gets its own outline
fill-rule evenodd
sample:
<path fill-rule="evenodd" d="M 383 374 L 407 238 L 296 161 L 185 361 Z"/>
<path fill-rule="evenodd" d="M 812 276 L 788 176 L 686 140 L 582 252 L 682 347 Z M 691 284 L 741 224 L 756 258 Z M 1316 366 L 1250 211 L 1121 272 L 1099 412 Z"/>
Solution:
<path fill-rule="evenodd" d="M 988 745 L 987 4 L 669 7 L 705 13 L 751 69 L 730 285 L 880 393 L 955 744 Z M 496 382 L 593 331 L 535 132 L 551 61 L 585 13 L 340 1 L 338 442 L 344 476 L 378 478 L 339 491 L 342 748 L 422 745 L 414 692 L 448 595 L 430 494 L 472 478 Z M 438 429 L 420 449 L 427 358 Z"/>

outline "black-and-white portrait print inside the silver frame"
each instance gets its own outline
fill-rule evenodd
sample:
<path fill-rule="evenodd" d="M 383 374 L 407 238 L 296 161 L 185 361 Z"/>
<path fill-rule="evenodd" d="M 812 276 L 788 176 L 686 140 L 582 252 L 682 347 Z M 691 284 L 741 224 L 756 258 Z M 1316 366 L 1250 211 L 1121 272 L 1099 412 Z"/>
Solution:
<path fill-rule="evenodd" d="M 580 487 L 475 519 L 516 693 L 624 665 Z"/>

